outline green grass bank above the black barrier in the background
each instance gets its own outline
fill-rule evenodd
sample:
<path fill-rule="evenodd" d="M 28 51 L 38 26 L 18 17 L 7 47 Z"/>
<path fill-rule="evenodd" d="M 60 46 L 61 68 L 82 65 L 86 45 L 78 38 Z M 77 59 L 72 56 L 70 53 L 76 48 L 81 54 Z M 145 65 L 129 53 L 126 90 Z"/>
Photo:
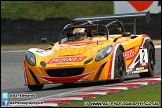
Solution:
<path fill-rule="evenodd" d="M 113 1 L 1 1 L 1 18 L 91 16 L 113 14 Z"/>

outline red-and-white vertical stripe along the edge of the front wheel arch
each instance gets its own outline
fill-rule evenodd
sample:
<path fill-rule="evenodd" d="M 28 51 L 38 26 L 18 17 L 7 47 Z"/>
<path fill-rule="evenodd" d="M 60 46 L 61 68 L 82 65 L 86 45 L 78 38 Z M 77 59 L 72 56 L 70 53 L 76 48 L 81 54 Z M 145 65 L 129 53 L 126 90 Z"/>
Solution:
<path fill-rule="evenodd" d="M 116 56 L 116 50 L 118 48 L 120 44 L 119 43 L 115 43 L 113 51 L 112 51 L 112 55 L 110 58 L 110 66 L 108 69 L 108 76 L 107 79 L 114 79 L 114 65 L 115 65 L 115 56 Z"/>

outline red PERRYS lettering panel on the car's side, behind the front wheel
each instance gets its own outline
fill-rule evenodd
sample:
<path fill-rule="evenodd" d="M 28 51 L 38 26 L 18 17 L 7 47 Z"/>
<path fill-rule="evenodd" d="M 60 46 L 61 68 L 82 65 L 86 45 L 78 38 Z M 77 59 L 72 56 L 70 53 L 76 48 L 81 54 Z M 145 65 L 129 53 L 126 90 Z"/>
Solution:
<path fill-rule="evenodd" d="M 123 53 L 125 60 L 132 59 L 135 55 L 135 48 L 131 48 Z"/>

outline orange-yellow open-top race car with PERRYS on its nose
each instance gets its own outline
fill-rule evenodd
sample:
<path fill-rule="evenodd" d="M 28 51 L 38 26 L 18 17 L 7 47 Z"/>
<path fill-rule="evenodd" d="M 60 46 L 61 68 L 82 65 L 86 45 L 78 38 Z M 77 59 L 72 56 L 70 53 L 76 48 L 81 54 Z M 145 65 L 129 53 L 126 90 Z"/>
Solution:
<path fill-rule="evenodd" d="M 24 57 L 25 83 L 30 90 L 41 90 L 44 84 L 115 80 L 126 75 L 152 77 L 155 70 L 155 48 L 147 34 L 136 34 L 136 19 L 149 12 L 72 19 L 60 33 L 58 42 L 42 42 L 44 49 L 30 48 Z M 122 20 L 132 19 L 133 33 L 126 31 Z"/>

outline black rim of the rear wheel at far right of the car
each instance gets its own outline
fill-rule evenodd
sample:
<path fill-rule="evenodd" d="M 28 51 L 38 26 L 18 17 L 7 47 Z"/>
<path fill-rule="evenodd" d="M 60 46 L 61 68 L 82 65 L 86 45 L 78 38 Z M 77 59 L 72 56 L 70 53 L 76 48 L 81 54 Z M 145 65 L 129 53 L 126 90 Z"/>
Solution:
<path fill-rule="evenodd" d="M 155 66 L 155 57 L 154 57 L 154 52 L 153 50 L 149 50 L 149 66 L 151 70 L 154 71 L 154 66 Z"/>

